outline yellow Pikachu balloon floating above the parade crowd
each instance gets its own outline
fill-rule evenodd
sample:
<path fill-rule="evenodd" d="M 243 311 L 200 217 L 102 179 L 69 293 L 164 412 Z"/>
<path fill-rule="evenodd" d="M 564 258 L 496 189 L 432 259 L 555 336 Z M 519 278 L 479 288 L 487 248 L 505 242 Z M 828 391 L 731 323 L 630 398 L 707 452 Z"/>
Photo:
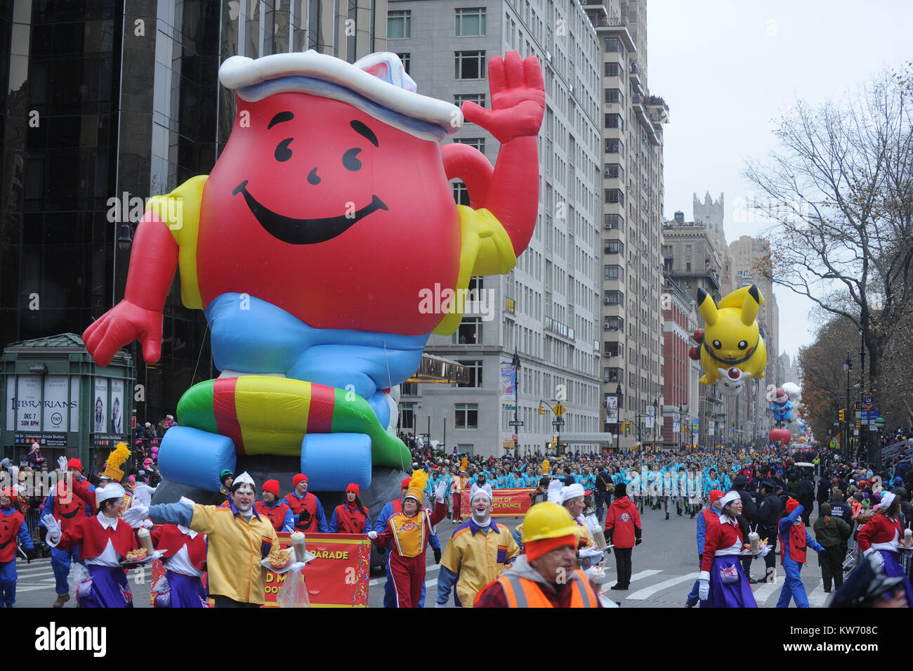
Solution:
<path fill-rule="evenodd" d="M 714 303 L 702 288 L 698 289 L 698 310 L 705 328 L 696 330 L 688 356 L 700 361 L 704 375 L 701 384 L 762 378 L 767 366 L 767 348 L 758 328 L 758 310 L 764 304 L 761 291 L 755 286 L 736 289 Z M 736 393 L 742 386 L 737 384 Z"/>

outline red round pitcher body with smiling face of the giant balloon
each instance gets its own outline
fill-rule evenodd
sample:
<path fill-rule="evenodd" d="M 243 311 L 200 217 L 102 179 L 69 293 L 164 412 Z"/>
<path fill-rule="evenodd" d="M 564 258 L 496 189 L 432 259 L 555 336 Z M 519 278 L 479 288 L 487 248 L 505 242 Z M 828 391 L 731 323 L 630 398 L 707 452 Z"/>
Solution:
<path fill-rule="evenodd" d="M 205 304 L 247 292 L 317 328 L 427 333 L 419 291 L 453 287 L 456 204 L 436 142 L 338 100 L 238 100 L 205 184 Z"/>

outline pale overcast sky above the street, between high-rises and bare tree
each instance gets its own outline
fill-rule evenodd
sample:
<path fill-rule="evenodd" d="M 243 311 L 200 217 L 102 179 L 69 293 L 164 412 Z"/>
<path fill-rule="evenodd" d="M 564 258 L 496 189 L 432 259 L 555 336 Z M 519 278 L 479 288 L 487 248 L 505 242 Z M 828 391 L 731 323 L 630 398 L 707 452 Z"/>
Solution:
<path fill-rule="evenodd" d="M 669 106 L 663 214 L 690 221 L 693 193 L 724 193 L 729 242 L 765 227 L 746 211 L 753 193 L 740 173 L 773 148 L 771 121 L 913 58 L 910 0 L 648 0 L 647 12 L 647 85 Z M 780 351 L 794 357 L 813 341 L 813 303 L 775 293 Z"/>

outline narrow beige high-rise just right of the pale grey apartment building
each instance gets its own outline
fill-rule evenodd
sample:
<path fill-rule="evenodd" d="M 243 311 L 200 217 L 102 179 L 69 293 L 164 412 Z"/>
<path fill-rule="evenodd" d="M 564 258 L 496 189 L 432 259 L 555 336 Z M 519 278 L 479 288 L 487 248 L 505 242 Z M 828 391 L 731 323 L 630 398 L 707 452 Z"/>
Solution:
<path fill-rule="evenodd" d="M 634 431 L 625 448 L 647 440 L 648 413 L 663 425 L 663 124 L 665 100 L 647 75 L 645 0 L 588 0 L 602 54 L 603 400 L 622 390 L 619 420 Z M 649 408 L 649 409 L 648 409 Z M 617 430 L 606 423 L 606 431 Z"/>

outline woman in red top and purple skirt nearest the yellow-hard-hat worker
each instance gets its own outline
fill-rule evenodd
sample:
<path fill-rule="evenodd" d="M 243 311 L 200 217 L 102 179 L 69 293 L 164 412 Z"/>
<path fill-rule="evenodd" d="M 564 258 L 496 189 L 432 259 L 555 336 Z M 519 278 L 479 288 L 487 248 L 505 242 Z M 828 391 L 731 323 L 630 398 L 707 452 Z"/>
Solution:
<path fill-rule="evenodd" d="M 737 521 L 742 509 L 739 492 L 727 492 L 720 503 L 719 518 L 708 516 L 707 520 L 704 553 L 700 560 L 700 607 L 757 608 L 748 576 L 739 561 L 744 544 Z"/>

